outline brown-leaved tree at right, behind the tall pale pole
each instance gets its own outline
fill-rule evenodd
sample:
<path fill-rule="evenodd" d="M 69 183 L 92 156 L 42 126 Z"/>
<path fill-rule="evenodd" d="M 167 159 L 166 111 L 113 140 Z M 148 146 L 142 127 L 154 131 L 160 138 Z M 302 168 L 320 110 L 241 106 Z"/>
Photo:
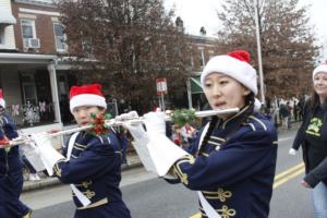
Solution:
<path fill-rule="evenodd" d="M 258 21 L 266 95 L 290 97 L 307 93 L 318 48 L 307 7 L 299 0 L 258 0 Z M 225 0 L 218 12 L 222 22 L 222 51 L 246 49 L 257 64 L 254 0 Z"/>

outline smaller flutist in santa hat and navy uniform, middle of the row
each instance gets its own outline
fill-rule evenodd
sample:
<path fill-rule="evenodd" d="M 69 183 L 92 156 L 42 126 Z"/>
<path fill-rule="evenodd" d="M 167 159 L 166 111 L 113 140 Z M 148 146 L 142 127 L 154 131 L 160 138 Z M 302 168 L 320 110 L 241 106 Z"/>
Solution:
<path fill-rule="evenodd" d="M 89 124 L 93 114 L 102 114 L 106 108 L 100 85 L 71 88 L 70 110 L 80 126 Z M 53 173 L 61 182 L 71 184 L 76 205 L 75 218 L 131 217 L 119 189 L 122 154 L 113 130 L 98 135 L 89 131 L 77 132 L 63 147 L 62 155 L 52 148 L 46 134 L 32 137 L 49 174 Z"/>

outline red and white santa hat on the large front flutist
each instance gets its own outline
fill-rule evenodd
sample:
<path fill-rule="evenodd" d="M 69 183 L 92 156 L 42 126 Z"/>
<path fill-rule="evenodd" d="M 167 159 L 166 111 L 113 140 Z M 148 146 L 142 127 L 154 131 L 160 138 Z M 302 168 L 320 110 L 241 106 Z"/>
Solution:
<path fill-rule="evenodd" d="M 206 77 L 211 73 L 222 73 L 233 77 L 252 90 L 254 95 L 257 94 L 256 71 L 250 64 L 250 55 L 246 51 L 232 51 L 211 58 L 201 74 L 202 87 L 205 85 Z"/>

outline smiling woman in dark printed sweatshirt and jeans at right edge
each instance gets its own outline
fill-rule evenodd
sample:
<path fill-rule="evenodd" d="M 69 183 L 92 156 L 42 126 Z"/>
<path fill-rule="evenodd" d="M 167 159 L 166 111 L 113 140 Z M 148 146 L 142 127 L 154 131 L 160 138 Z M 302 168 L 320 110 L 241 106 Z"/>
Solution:
<path fill-rule="evenodd" d="M 290 154 L 302 146 L 305 177 L 301 184 L 311 189 L 314 217 L 327 217 L 327 64 L 313 71 L 313 95 L 306 101 L 303 122 Z"/>

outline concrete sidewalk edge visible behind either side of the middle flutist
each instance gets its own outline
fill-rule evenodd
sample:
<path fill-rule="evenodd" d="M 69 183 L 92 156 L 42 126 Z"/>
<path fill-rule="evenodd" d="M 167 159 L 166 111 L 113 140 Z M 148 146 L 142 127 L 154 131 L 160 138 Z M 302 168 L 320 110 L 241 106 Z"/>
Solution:
<path fill-rule="evenodd" d="M 141 166 L 142 166 L 142 164 L 136 154 L 129 155 L 128 156 L 128 165 L 126 164 L 122 165 L 122 171 L 129 170 L 132 168 L 136 168 L 136 167 L 141 167 Z M 51 178 L 51 177 L 46 177 L 46 175 L 40 175 L 40 178 L 41 179 L 38 181 L 24 181 L 23 192 L 29 192 L 29 191 L 45 189 L 47 186 L 60 184 L 60 181 L 58 180 L 58 178 Z"/>

